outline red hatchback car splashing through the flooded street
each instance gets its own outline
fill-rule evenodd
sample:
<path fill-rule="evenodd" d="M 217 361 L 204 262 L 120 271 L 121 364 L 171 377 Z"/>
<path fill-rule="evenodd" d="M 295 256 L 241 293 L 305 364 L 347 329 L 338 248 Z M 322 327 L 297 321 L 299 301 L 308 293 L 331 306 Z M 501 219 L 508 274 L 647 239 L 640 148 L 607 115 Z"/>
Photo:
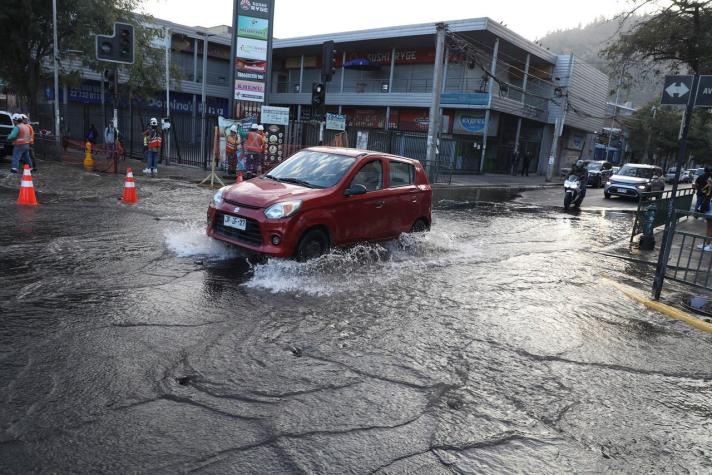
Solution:
<path fill-rule="evenodd" d="M 427 231 L 431 208 L 432 189 L 417 160 L 313 147 L 218 190 L 207 232 L 253 253 L 303 261 L 333 246 Z"/>

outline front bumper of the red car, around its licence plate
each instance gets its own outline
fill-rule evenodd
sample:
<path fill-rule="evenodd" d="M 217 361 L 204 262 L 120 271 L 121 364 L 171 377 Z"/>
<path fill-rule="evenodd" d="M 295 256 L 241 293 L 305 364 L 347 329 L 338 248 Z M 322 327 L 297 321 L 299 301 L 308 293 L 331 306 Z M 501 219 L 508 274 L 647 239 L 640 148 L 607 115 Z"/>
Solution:
<path fill-rule="evenodd" d="M 238 230 L 224 225 L 224 216 L 243 218 L 246 229 Z M 210 205 L 207 214 L 208 236 L 239 247 L 248 254 L 264 254 L 271 257 L 291 257 L 294 255 L 299 234 L 294 220 L 267 219 L 262 209 L 241 208 L 237 213 L 232 206 Z M 273 244 L 273 238 L 279 240 Z"/>

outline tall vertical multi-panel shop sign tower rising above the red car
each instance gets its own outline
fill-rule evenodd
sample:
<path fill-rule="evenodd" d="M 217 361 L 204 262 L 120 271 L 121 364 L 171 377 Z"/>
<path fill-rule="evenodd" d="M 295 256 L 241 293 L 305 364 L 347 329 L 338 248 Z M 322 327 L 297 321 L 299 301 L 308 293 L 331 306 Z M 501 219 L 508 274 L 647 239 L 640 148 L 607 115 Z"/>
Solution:
<path fill-rule="evenodd" d="M 269 83 L 274 0 L 235 0 L 234 100 L 265 102 Z M 239 116 L 243 108 L 235 106 Z"/>

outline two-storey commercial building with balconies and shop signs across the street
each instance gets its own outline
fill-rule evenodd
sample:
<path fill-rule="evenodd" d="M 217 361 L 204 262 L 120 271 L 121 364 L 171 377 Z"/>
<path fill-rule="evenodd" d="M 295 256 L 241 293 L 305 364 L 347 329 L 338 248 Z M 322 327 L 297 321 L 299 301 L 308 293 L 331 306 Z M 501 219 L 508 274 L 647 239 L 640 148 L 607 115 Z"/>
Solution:
<path fill-rule="evenodd" d="M 169 29 L 171 61 L 182 72 L 182 79 L 172 83 L 176 90 L 171 92 L 171 115 L 200 117 L 203 79 L 206 113 L 231 115 L 230 29 L 165 21 L 158 21 L 157 27 Z M 446 27 L 441 161 L 458 172 L 509 172 L 512 152 L 519 147 L 530 157 L 530 170 L 544 172 L 559 129 L 557 166 L 592 156 L 594 133 L 602 129 L 606 116 L 605 74 L 572 55 L 556 55 L 489 18 L 447 22 Z M 314 119 L 312 86 L 320 82 L 322 44 L 332 40 L 339 54 L 336 73 L 327 84 L 327 111 L 345 114 L 350 136 L 362 132 L 361 144 L 423 159 L 435 35 L 436 24 L 428 23 L 275 39 L 267 101 L 289 107 L 295 121 Z M 476 60 L 463 53 L 462 45 Z M 99 102 L 99 76 L 93 74 L 96 77 L 85 75 L 89 82 L 82 87 L 65 89 L 70 107 L 72 102 Z M 240 115 L 259 111 L 260 104 L 238 104 Z M 160 114 L 165 96 L 141 108 Z M 200 130 L 193 127 L 186 133 L 195 138 Z"/>

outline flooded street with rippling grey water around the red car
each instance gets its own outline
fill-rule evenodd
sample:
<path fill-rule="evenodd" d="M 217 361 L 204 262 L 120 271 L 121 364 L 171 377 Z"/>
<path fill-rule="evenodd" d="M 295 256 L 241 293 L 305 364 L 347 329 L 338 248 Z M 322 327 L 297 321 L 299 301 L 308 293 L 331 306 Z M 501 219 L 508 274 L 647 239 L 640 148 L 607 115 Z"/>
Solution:
<path fill-rule="evenodd" d="M 712 337 L 592 251 L 631 215 L 443 202 L 432 231 L 251 266 L 212 192 L 0 172 L 3 473 L 712 471 Z M 670 286 L 673 289 L 673 286 Z"/>

